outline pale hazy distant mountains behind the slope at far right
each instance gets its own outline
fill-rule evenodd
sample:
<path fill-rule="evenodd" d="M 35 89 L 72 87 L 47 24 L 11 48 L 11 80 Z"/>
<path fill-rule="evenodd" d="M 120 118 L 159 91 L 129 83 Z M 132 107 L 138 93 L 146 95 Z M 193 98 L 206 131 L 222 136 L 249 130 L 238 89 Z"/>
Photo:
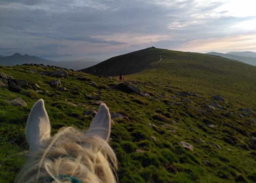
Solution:
<path fill-rule="evenodd" d="M 239 53 L 239 52 L 229 52 L 229 53 Z M 240 52 L 240 53 L 242 53 L 242 52 Z M 243 52 L 243 53 L 245 53 L 245 52 Z M 254 52 L 250 52 L 250 53 L 254 53 Z M 241 61 L 241 62 L 250 64 L 250 65 L 255 65 L 256 66 L 256 58 L 255 57 L 242 57 L 242 56 L 224 54 L 224 53 L 217 53 L 217 52 L 209 52 L 207 54 L 208 55 L 220 56 L 220 57 L 224 57 L 224 58 L 229 58 L 229 59 Z"/>

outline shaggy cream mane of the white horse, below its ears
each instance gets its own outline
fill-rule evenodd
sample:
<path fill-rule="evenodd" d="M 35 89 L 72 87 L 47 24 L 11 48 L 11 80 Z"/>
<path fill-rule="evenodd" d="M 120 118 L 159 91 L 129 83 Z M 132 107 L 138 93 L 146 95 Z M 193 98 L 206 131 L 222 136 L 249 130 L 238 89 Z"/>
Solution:
<path fill-rule="evenodd" d="M 30 142 L 29 119 L 26 136 Z M 63 127 L 53 137 L 42 138 L 46 135 L 41 135 L 40 142 L 30 148 L 28 160 L 15 182 L 73 183 L 70 178 L 73 177 L 82 183 L 116 183 L 116 155 L 106 139 L 90 133 L 96 130 L 95 126 L 90 129 L 84 133 L 73 127 Z"/>

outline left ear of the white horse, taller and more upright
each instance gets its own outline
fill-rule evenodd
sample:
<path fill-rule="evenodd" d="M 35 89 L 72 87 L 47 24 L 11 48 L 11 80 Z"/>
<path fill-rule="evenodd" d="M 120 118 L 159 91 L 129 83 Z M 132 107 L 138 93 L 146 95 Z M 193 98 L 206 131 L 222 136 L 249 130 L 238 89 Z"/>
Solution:
<path fill-rule="evenodd" d="M 44 100 L 38 100 L 32 107 L 27 125 L 26 138 L 29 143 L 29 150 L 36 149 L 43 140 L 50 138 L 51 125 L 44 108 Z"/>

